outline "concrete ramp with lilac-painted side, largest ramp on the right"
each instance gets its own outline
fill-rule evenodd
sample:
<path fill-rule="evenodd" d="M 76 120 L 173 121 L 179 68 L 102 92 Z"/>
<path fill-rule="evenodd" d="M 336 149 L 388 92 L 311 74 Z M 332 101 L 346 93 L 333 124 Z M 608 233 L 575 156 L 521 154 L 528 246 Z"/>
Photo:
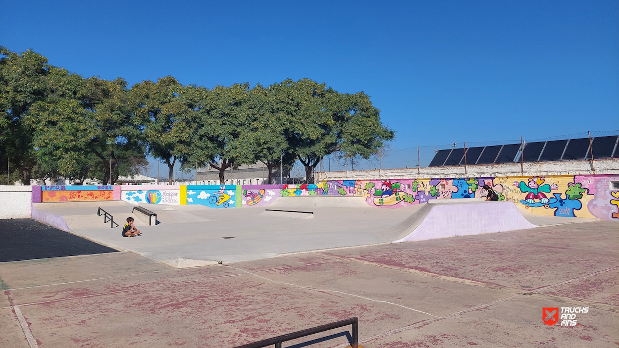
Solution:
<path fill-rule="evenodd" d="M 513 202 L 480 202 L 460 199 L 432 200 L 389 228 L 394 243 L 525 230 L 537 225 L 527 221 Z M 447 202 L 449 201 L 449 202 Z M 455 202 L 459 201 L 459 202 Z M 387 231 L 386 231 L 387 232 Z"/>

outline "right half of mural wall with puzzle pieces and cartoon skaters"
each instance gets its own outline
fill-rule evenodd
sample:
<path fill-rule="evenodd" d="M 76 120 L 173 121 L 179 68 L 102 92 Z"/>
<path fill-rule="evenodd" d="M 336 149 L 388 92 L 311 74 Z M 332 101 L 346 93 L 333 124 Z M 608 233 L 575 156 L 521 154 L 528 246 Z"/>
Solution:
<path fill-rule="evenodd" d="M 288 187 L 282 195 L 363 196 L 370 206 L 394 208 L 430 199 L 485 198 L 483 185 L 488 185 L 500 201 L 522 204 L 534 214 L 619 221 L 619 189 L 612 181 L 619 175 L 339 180 Z"/>

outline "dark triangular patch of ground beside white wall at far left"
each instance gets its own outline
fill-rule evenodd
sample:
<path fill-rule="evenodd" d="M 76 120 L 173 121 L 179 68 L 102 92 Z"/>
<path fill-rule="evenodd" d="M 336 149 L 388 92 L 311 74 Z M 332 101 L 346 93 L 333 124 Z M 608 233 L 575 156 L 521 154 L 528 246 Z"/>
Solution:
<path fill-rule="evenodd" d="M 0 220 L 0 262 L 116 251 L 32 219 Z"/>

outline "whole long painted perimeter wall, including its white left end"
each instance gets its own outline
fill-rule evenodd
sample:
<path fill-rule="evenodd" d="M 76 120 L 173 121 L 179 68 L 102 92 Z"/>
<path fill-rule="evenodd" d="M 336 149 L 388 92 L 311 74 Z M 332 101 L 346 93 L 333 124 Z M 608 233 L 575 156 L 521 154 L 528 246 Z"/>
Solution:
<path fill-rule="evenodd" d="M 615 182 L 619 183 L 619 175 L 327 180 L 318 185 L 0 186 L 0 216 L 32 216 L 30 194 L 31 202 L 122 200 L 131 204 L 198 204 L 217 209 L 266 207 L 276 201 L 277 206 L 286 206 L 290 203 L 286 199 L 292 196 L 335 196 L 357 198 L 340 201 L 344 206 L 358 206 L 361 198 L 370 207 L 385 209 L 432 200 L 485 198 L 483 185 L 488 185 L 500 201 L 514 202 L 533 214 L 619 221 L 619 189 L 613 188 Z M 323 204 L 316 202 L 309 206 Z"/>

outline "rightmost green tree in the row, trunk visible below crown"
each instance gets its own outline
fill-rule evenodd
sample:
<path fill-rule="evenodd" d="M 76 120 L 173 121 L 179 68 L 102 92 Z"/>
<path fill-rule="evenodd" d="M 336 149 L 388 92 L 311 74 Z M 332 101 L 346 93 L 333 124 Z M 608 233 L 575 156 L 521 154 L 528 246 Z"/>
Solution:
<path fill-rule="evenodd" d="M 326 155 L 341 151 L 368 159 L 394 137 L 363 92 L 340 94 L 309 79 L 288 79 L 269 88 L 279 95 L 279 111 L 287 114 L 288 146 L 305 166 L 307 183 Z"/>

